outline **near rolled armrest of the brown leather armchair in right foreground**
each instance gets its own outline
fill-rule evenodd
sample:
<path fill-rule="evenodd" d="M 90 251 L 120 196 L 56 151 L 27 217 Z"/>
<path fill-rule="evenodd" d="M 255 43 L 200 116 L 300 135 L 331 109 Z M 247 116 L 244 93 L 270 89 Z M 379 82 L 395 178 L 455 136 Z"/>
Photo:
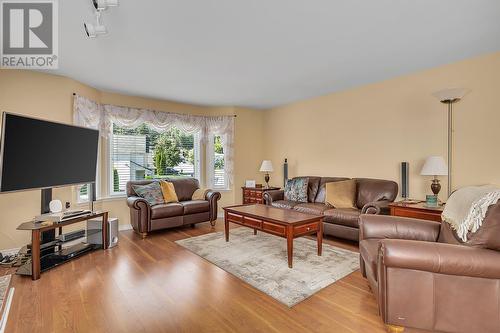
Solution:
<path fill-rule="evenodd" d="M 379 262 L 386 267 L 500 279 L 500 252 L 494 250 L 386 239 L 381 241 L 379 251 Z"/>

